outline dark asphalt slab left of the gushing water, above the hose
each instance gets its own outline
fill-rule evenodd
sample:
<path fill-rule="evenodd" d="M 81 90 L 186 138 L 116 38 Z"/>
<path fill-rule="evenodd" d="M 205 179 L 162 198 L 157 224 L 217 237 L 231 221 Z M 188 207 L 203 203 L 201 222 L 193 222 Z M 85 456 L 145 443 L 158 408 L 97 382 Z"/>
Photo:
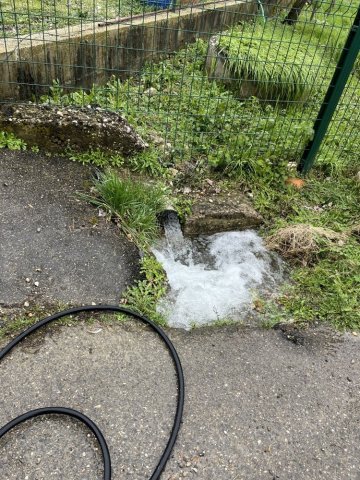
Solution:
<path fill-rule="evenodd" d="M 0 304 L 116 303 L 138 252 L 76 197 L 89 168 L 0 150 Z"/>

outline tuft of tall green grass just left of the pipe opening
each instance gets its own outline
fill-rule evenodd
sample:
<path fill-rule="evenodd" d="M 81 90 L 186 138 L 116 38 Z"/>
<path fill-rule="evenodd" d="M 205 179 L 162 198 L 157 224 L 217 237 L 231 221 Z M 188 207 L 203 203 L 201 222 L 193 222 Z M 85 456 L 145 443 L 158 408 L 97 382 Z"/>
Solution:
<path fill-rule="evenodd" d="M 93 205 L 110 212 L 122 231 L 140 248 L 147 249 L 159 235 L 157 216 L 165 206 L 164 188 L 101 173 L 95 181 Z"/>

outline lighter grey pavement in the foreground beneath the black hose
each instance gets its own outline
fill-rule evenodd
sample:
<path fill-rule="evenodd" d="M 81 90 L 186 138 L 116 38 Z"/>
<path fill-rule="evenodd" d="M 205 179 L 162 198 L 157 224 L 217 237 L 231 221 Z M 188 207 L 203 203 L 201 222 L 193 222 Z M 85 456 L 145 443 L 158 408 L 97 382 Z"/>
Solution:
<path fill-rule="evenodd" d="M 74 323 L 72 321 L 72 323 Z M 184 422 L 162 478 L 359 480 L 360 343 L 324 329 L 170 331 L 186 378 Z M 0 366 L 0 425 L 29 408 L 69 406 L 103 430 L 114 479 L 149 478 L 175 405 L 168 354 L 129 322 L 49 329 Z M 36 420 L 0 442 L 2 478 L 101 478 L 88 432 Z"/>

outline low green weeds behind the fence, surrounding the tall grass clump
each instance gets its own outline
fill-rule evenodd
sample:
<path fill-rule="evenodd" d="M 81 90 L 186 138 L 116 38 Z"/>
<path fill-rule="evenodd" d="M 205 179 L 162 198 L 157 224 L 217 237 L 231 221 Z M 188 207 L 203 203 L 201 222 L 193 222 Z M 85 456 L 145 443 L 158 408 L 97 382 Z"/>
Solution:
<path fill-rule="evenodd" d="M 279 28 L 296 36 L 293 27 Z M 113 78 L 105 87 L 70 95 L 58 87 L 52 97 L 56 103 L 100 105 L 125 115 L 154 147 L 130 159 L 134 169 L 145 166 L 148 173 L 162 175 L 166 167 L 188 161 L 196 163 L 198 170 L 211 166 L 221 174 L 249 180 L 255 177 L 268 183 L 275 176 L 282 181 L 288 163 L 300 158 L 313 135 L 313 122 L 335 69 L 330 50 L 326 46 L 320 50 L 310 40 L 305 33 L 297 37 L 298 44 L 307 45 L 307 63 L 314 58 L 319 62 L 311 100 L 305 104 L 294 101 L 285 108 L 276 99 L 255 97 L 239 102 L 224 85 L 208 79 L 204 72 L 207 45 L 201 40 L 144 68 L 139 81 Z M 270 62 L 267 70 L 273 68 Z M 344 171 L 357 160 L 359 89 L 359 80 L 353 76 L 319 154 L 319 163 L 328 173 Z M 154 136 L 160 137 L 160 145 Z"/>

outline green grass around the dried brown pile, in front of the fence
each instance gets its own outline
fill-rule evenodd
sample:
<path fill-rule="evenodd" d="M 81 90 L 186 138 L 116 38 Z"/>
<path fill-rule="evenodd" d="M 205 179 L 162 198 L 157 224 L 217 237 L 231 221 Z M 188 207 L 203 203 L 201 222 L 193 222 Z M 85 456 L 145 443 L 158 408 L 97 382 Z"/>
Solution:
<path fill-rule="evenodd" d="M 354 171 L 325 176 L 317 167 L 301 191 L 283 186 L 271 202 L 264 201 L 263 193 L 254 198 L 267 220 L 267 235 L 305 223 L 346 236 L 344 244 L 322 244 L 310 264 L 299 266 L 294 262 L 290 283 L 276 305 L 268 306 L 267 321 L 304 324 L 316 320 L 339 329 L 359 329 L 360 243 L 350 235 L 351 228 L 360 223 L 360 183 Z"/>

